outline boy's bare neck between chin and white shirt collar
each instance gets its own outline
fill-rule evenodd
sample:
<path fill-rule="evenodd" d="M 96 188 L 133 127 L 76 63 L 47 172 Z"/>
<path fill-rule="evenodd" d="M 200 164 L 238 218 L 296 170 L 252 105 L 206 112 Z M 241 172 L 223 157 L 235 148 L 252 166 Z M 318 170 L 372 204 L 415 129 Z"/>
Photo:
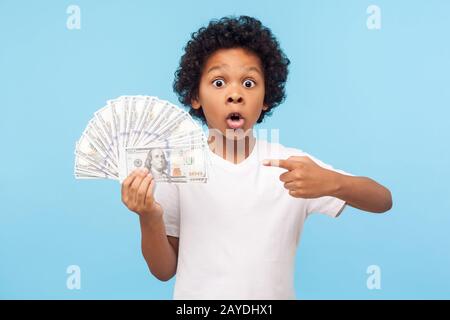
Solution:
<path fill-rule="evenodd" d="M 252 130 L 239 139 L 230 139 L 230 137 L 218 134 L 212 135 L 211 132 L 208 137 L 210 150 L 234 164 L 238 164 L 247 159 L 252 153 L 255 143 L 256 138 L 253 136 Z"/>

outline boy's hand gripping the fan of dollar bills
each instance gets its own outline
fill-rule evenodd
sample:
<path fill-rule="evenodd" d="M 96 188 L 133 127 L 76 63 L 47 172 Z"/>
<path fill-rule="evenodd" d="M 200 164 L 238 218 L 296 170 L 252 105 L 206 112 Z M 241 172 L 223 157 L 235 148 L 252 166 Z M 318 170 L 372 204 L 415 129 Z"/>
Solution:
<path fill-rule="evenodd" d="M 141 218 L 162 214 L 162 208 L 153 197 L 155 180 L 148 169 L 133 171 L 122 183 L 122 202 Z"/>

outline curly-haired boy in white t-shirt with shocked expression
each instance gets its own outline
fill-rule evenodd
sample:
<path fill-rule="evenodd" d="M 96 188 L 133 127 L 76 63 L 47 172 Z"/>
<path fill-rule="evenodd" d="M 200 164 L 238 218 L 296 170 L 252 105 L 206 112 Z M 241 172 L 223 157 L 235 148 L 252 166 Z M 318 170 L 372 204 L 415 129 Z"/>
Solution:
<path fill-rule="evenodd" d="M 208 125 L 208 182 L 153 192 L 146 170 L 122 184 L 151 273 L 177 275 L 175 299 L 294 299 L 295 251 L 309 214 L 392 206 L 389 190 L 369 178 L 255 138 L 254 124 L 284 99 L 288 64 L 271 31 L 246 16 L 210 22 L 185 48 L 174 90 Z"/>

